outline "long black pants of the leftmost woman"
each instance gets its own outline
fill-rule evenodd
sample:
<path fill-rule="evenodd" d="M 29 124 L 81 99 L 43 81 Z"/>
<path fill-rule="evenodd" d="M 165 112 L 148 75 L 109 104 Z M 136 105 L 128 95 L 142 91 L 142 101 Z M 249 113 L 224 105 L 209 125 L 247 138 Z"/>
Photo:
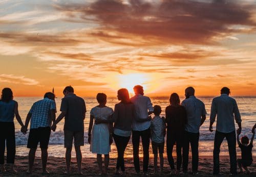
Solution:
<path fill-rule="evenodd" d="M 7 163 L 14 164 L 16 145 L 13 122 L 0 122 L 0 164 L 5 163 L 5 144 L 7 149 Z"/>

